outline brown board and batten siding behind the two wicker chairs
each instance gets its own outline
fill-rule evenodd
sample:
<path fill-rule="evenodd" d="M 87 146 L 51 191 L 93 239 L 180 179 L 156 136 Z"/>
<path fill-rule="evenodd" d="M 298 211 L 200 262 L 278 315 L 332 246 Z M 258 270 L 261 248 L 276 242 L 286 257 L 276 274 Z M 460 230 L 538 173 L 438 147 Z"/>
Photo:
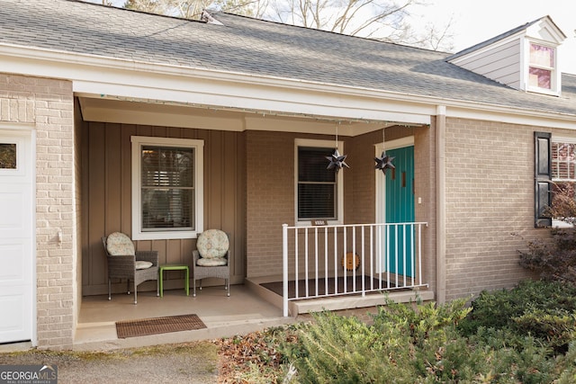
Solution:
<path fill-rule="evenodd" d="M 246 158 L 243 133 L 83 122 L 82 135 L 82 291 L 107 293 L 106 262 L 101 237 L 115 231 L 131 235 L 131 136 L 194 138 L 204 141 L 204 229 L 229 234 L 232 262 L 230 282 L 241 283 L 246 263 Z M 192 267 L 196 239 L 141 240 L 139 250 L 157 250 L 159 263 L 187 263 Z M 192 272 L 192 271 L 191 271 Z M 221 284 L 221 281 L 213 281 Z M 204 285 L 210 284 L 206 281 Z M 183 273 L 169 271 L 165 289 L 184 287 Z M 112 284 L 123 292 L 125 281 Z M 147 281 L 139 290 L 156 290 Z"/>

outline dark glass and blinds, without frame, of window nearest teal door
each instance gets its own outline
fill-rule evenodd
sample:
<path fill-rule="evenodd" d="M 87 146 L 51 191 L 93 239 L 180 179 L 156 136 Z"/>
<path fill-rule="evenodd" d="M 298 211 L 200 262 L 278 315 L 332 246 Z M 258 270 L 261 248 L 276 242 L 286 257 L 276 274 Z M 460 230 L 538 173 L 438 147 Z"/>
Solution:
<path fill-rule="evenodd" d="M 332 147 L 298 147 L 298 220 L 338 219 L 337 174 L 327 169 Z"/>

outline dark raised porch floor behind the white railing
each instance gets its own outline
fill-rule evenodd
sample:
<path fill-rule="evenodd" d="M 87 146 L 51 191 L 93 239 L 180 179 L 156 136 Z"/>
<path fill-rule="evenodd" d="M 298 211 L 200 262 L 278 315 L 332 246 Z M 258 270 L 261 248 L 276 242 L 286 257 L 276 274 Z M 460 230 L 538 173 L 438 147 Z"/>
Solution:
<path fill-rule="evenodd" d="M 335 290 L 334 290 L 334 285 L 335 285 L 335 279 L 333 277 L 329 277 L 328 279 L 328 294 L 334 294 Z M 356 291 L 354 290 L 354 283 L 356 280 Z M 362 280 L 363 280 L 363 276 L 357 275 L 356 279 L 353 278 L 352 276 L 348 276 L 347 280 L 346 280 L 346 294 L 349 295 L 358 295 L 361 292 L 359 292 L 359 290 L 362 290 Z M 371 289 L 371 281 L 370 281 L 370 276 L 364 276 L 364 281 L 365 281 L 365 288 L 367 290 Z M 373 279 L 373 286 L 374 286 L 374 290 L 378 290 L 378 288 L 380 287 L 380 280 L 378 280 L 377 278 Z M 263 286 L 264 288 L 266 288 L 267 290 L 272 290 L 273 292 L 275 292 L 275 294 L 282 296 L 283 295 L 283 283 L 282 281 L 274 281 L 274 282 L 263 282 L 260 284 L 261 286 Z M 390 285 L 391 287 L 394 287 L 393 284 Z M 385 290 L 386 289 L 386 281 L 382 281 L 382 289 Z M 319 295 L 326 295 L 327 294 L 327 290 L 326 290 L 327 286 L 325 284 L 324 279 L 318 279 L 318 294 Z M 341 294 L 344 294 L 344 278 L 343 277 L 338 277 L 338 292 Z M 316 281 L 314 281 L 314 279 L 310 279 L 308 281 L 308 295 L 309 296 L 316 296 Z M 306 299 L 306 280 L 299 280 L 298 281 L 298 296 L 300 299 Z M 295 281 L 288 281 L 288 299 L 293 299 L 296 297 L 296 282 Z"/>

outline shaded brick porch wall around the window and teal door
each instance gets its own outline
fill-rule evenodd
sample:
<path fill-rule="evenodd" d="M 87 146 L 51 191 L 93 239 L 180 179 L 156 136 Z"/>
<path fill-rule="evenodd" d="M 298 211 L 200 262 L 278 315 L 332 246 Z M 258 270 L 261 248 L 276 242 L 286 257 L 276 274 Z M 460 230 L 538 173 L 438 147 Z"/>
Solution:
<path fill-rule="evenodd" d="M 429 135 L 429 129 L 420 130 L 424 137 Z M 395 127 L 387 129 L 386 139 L 392 140 L 413 134 L 413 129 Z M 325 135 L 247 131 L 248 278 L 282 273 L 282 225 L 294 224 L 295 138 L 334 139 Z M 374 145 L 382 142 L 382 138 L 381 130 L 355 138 L 338 138 L 345 142 L 343 154 L 347 155 L 347 164 L 350 165 L 350 168 L 340 171 L 344 173 L 344 217 L 347 224 L 374 223 L 376 172 Z M 426 179 L 420 185 L 431 185 L 428 177 L 432 165 L 426 166 L 428 170 L 420 173 Z M 427 207 L 430 207 L 429 204 Z M 420 219 L 426 220 L 428 213 L 422 214 Z M 428 240 L 427 244 L 429 248 Z M 293 271 L 292 257 L 289 268 Z M 428 278 L 427 275 L 425 280 Z"/>

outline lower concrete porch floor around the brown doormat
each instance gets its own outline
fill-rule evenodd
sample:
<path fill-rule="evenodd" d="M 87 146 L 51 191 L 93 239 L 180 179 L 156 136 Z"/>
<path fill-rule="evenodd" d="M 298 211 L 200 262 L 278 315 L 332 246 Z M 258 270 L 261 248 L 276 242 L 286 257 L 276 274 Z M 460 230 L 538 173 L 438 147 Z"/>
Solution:
<path fill-rule="evenodd" d="M 282 308 L 261 299 L 246 285 L 232 285 L 230 296 L 222 286 L 196 290 L 196 297 L 186 296 L 184 289 L 165 290 L 164 297 L 156 292 L 138 292 L 138 304 L 133 295 L 114 294 L 89 296 L 82 299 L 73 350 L 94 351 L 130 348 L 155 344 L 183 343 L 241 335 L 270 326 L 293 323 L 294 317 L 283 317 Z M 206 325 L 204 329 L 161 335 L 119 339 L 115 322 L 148 317 L 196 314 Z"/>

